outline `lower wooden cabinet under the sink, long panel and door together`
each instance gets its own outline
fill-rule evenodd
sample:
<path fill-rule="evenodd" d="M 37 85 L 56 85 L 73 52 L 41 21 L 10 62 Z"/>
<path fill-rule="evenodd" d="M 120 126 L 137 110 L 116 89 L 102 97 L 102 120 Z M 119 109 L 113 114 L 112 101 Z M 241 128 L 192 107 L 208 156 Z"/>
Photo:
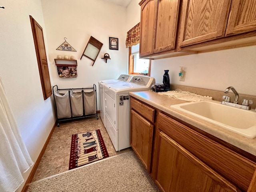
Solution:
<path fill-rule="evenodd" d="M 256 162 L 165 114 L 156 128 L 152 171 L 162 190 L 256 191 Z"/>

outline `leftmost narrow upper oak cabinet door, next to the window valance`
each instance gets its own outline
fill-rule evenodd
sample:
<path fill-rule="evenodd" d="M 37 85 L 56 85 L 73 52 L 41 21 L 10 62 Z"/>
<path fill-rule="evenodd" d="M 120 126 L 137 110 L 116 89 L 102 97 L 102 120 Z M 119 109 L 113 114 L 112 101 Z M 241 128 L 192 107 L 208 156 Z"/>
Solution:
<path fill-rule="evenodd" d="M 140 4 L 140 56 L 152 54 L 155 0 Z"/>

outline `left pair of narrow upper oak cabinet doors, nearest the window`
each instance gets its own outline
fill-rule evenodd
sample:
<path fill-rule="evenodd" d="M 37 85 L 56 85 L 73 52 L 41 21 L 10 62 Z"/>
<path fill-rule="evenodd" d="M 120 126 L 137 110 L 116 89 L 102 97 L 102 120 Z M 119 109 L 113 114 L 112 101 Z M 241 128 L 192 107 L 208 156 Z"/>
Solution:
<path fill-rule="evenodd" d="M 142 0 L 140 57 L 174 50 L 180 0 Z"/>

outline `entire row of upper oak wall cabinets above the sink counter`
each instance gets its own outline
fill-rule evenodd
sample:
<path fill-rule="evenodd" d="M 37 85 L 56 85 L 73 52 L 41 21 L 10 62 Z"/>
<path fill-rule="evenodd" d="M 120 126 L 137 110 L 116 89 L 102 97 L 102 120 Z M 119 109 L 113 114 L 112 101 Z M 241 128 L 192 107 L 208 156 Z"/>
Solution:
<path fill-rule="evenodd" d="M 256 44 L 256 0 L 142 0 L 140 58 Z"/>

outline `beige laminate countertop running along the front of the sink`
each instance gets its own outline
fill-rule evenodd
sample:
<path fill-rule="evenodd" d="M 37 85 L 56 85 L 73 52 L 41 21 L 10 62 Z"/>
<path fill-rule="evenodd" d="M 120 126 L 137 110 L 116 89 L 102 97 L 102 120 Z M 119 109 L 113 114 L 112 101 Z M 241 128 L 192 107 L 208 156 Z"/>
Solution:
<path fill-rule="evenodd" d="M 224 129 L 220 126 L 214 125 L 210 122 L 204 121 L 200 118 L 192 116 L 186 112 L 170 108 L 171 105 L 186 103 L 185 101 L 178 100 L 176 98 L 170 98 L 165 95 L 160 95 L 151 90 L 129 92 L 130 96 L 137 98 L 153 107 L 162 110 L 192 126 L 195 126 L 221 140 L 224 140 L 250 154 L 256 156 L 256 138 L 250 139 L 239 134 L 236 134 L 230 130 Z"/>

